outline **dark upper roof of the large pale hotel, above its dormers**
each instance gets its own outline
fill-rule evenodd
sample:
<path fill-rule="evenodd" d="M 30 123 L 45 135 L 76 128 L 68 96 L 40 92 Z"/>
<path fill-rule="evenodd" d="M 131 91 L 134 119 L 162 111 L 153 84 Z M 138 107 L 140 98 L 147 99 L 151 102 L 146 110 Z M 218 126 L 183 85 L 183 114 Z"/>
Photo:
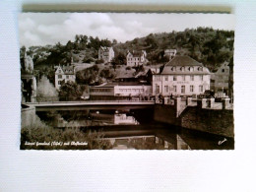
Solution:
<path fill-rule="evenodd" d="M 203 64 L 189 56 L 178 55 L 166 63 L 165 66 L 203 66 Z"/>

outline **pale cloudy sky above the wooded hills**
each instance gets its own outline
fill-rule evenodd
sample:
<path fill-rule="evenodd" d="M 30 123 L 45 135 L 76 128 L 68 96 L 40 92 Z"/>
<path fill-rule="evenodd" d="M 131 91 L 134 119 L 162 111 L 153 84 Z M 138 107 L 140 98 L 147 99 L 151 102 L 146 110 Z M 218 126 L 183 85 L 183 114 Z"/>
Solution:
<path fill-rule="evenodd" d="M 66 44 L 76 34 L 125 42 L 156 32 L 180 32 L 197 27 L 234 30 L 230 14 L 22 13 L 20 45 Z"/>

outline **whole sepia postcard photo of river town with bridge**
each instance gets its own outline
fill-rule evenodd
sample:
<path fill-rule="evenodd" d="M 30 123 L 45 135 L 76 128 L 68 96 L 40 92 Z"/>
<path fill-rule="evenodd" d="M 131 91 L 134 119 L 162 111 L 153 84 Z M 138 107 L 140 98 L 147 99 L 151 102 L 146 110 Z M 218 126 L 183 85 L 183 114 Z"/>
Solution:
<path fill-rule="evenodd" d="M 234 150 L 230 14 L 22 13 L 21 150 Z"/>

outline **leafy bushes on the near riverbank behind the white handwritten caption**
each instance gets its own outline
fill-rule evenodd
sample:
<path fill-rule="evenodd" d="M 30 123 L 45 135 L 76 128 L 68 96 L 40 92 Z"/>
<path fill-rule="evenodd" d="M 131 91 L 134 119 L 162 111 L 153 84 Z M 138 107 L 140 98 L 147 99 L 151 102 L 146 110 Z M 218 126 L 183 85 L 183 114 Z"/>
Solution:
<path fill-rule="evenodd" d="M 103 140 L 102 131 L 82 131 L 77 124 L 69 123 L 69 127 L 63 129 L 54 129 L 40 121 L 35 116 L 35 121 L 31 126 L 22 127 L 21 130 L 21 150 L 108 150 L 112 148 L 109 141 Z M 29 143 L 48 143 L 48 142 L 87 142 L 83 146 L 36 146 L 25 145 Z"/>

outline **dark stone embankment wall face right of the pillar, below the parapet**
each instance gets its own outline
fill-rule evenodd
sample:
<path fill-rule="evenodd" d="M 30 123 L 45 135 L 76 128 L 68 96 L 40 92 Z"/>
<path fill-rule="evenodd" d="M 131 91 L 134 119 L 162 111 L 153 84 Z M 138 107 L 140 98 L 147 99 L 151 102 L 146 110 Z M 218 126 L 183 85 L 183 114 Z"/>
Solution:
<path fill-rule="evenodd" d="M 234 136 L 233 110 L 206 109 L 187 106 L 180 118 L 180 126 L 226 137 Z"/>

